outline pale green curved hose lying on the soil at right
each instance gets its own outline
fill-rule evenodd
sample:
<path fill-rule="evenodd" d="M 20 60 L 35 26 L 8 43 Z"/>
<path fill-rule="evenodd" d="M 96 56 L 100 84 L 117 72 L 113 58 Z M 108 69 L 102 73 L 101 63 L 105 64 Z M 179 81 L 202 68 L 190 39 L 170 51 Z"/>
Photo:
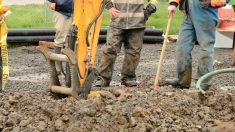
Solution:
<path fill-rule="evenodd" d="M 220 70 L 215 70 L 215 71 L 209 72 L 199 78 L 199 80 L 197 81 L 196 87 L 199 89 L 199 91 L 202 94 L 205 94 L 206 92 L 201 88 L 201 83 L 214 75 L 218 75 L 218 74 L 222 74 L 222 73 L 235 73 L 235 68 L 226 68 L 226 69 L 220 69 Z"/>

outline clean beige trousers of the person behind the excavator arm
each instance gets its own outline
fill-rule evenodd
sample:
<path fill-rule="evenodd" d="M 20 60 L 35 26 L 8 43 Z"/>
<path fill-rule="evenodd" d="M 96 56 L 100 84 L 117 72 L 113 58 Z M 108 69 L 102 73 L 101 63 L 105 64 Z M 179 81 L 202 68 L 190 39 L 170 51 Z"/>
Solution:
<path fill-rule="evenodd" d="M 63 47 L 66 41 L 66 37 L 69 33 L 70 27 L 72 25 L 72 17 L 67 17 L 57 11 L 54 12 L 53 16 L 55 24 L 55 46 Z"/>

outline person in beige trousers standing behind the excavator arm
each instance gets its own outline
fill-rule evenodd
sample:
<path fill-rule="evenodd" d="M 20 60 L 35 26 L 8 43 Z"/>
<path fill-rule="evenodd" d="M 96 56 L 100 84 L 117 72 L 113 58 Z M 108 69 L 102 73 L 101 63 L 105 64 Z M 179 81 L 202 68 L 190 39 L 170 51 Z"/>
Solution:
<path fill-rule="evenodd" d="M 72 25 L 73 0 L 48 0 L 54 10 L 53 22 L 56 30 L 54 39 L 55 53 L 60 54 Z M 62 62 L 56 62 L 57 73 L 62 71 Z"/>

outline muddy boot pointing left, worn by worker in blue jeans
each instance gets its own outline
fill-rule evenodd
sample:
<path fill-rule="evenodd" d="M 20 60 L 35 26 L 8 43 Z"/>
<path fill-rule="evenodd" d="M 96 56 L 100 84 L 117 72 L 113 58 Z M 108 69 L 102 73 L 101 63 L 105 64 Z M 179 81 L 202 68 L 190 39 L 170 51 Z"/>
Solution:
<path fill-rule="evenodd" d="M 172 85 L 173 87 L 182 88 L 182 89 L 190 88 L 190 85 L 180 84 L 178 78 L 166 79 L 161 85 Z"/>

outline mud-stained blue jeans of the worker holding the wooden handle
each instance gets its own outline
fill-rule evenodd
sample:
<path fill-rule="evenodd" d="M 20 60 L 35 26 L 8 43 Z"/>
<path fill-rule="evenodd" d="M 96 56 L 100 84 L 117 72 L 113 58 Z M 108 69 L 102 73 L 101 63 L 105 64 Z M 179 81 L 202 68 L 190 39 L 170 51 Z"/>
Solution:
<path fill-rule="evenodd" d="M 208 16 L 210 18 L 210 16 Z M 207 21 L 206 21 L 207 20 Z M 190 86 L 192 78 L 191 52 L 196 40 L 200 47 L 198 54 L 197 79 L 213 70 L 213 52 L 215 43 L 215 23 L 185 18 L 181 24 L 179 39 L 177 41 L 177 75 L 179 84 Z M 208 80 L 207 80 L 208 81 Z M 203 85 L 203 84 L 202 84 Z"/>

